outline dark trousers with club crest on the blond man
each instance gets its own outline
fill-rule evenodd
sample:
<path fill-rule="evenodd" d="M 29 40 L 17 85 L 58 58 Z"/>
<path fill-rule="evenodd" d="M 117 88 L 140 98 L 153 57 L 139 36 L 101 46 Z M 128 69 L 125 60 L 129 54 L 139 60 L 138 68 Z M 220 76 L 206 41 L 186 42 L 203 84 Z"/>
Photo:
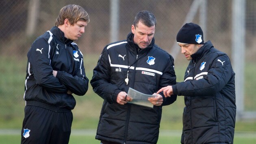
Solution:
<path fill-rule="evenodd" d="M 21 144 L 68 144 L 73 114 L 25 106 Z"/>

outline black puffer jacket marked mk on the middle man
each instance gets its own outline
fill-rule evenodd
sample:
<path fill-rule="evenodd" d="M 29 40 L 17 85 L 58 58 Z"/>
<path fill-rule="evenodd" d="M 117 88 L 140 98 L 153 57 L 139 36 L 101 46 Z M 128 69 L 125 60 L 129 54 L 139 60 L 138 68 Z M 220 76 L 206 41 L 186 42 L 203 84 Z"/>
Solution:
<path fill-rule="evenodd" d="M 120 105 L 117 94 L 129 87 L 145 94 L 176 84 L 174 59 L 152 40 L 149 47 L 139 50 L 127 40 L 107 45 L 93 70 L 93 91 L 104 99 L 96 139 L 120 144 L 155 144 L 161 121 L 162 106 L 148 108 L 135 104 Z M 151 61 L 150 61 L 151 59 Z M 129 67 L 129 83 L 126 85 Z M 164 98 L 163 105 L 173 103 L 177 95 Z"/>

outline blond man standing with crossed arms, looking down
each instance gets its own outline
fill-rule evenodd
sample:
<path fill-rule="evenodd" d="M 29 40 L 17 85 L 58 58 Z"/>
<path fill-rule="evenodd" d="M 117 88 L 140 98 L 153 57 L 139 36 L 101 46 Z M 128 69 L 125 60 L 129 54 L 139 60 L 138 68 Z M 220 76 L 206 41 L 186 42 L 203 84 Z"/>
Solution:
<path fill-rule="evenodd" d="M 76 105 L 89 80 L 77 40 L 89 23 L 81 6 L 61 8 L 56 26 L 39 36 L 28 51 L 22 144 L 68 144 Z"/>

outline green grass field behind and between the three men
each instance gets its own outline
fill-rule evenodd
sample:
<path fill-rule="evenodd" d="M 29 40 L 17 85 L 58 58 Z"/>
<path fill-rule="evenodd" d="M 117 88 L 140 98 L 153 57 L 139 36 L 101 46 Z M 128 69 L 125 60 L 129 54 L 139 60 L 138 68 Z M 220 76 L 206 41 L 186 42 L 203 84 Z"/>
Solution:
<path fill-rule="evenodd" d="M 86 74 L 89 80 L 92 70 L 95 67 L 98 55 L 84 55 Z M 177 81 L 183 80 L 184 71 L 187 67 L 187 60 L 178 59 L 175 62 Z M 0 56 L 0 129 L 12 130 L 21 129 L 24 117 L 24 80 L 26 74 L 26 56 L 4 57 Z M 256 111 L 256 64 L 247 63 L 245 69 L 245 110 Z M 72 111 L 74 121 L 72 131 L 78 129 L 96 129 L 102 98 L 96 95 L 89 85 L 88 92 L 82 96 L 75 96 L 77 104 Z M 180 143 L 180 131 L 182 129 L 182 111 L 184 108 L 184 97 L 180 96 L 177 101 L 170 106 L 163 107 L 161 120 L 161 131 L 158 144 L 178 144 Z M 169 132 L 168 132 L 169 131 Z M 173 132 L 175 131 L 175 132 Z M 256 144 L 256 121 L 240 120 L 236 122 L 236 134 L 234 144 Z M 0 144 L 20 143 L 20 133 L 13 134 L 0 133 Z M 99 144 L 95 140 L 95 133 L 89 135 L 85 133 L 75 133 L 71 135 L 70 144 Z"/>

